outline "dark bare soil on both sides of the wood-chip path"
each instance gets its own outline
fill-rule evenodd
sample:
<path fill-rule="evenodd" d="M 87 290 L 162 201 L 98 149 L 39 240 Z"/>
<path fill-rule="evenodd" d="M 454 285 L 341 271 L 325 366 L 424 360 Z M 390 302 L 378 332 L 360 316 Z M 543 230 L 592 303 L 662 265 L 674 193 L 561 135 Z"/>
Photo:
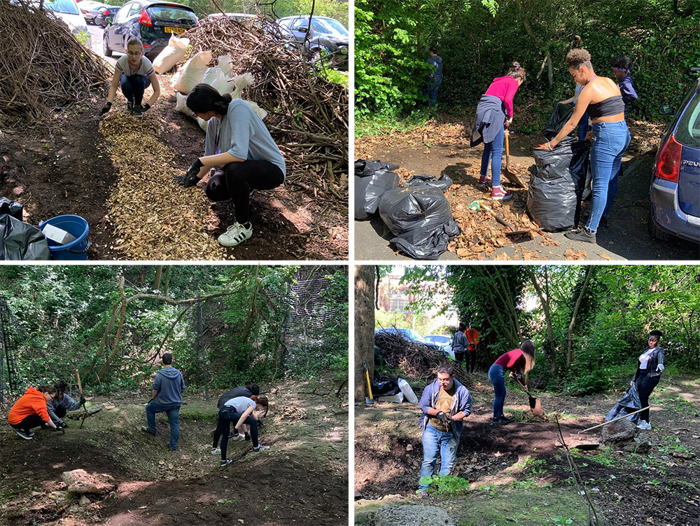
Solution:
<path fill-rule="evenodd" d="M 159 139 L 172 151 L 163 159 L 181 174 L 204 153 L 204 132 L 194 120 L 174 111 L 176 97 L 168 75 L 160 76 L 161 98 L 146 118 L 157 120 Z M 151 88 L 146 92 L 146 98 Z M 25 221 L 38 225 L 62 214 L 82 216 L 90 225 L 90 259 L 116 260 L 123 253 L 114 247 L 118 236 L 108 221 L 107 202 L 119 177 L 104 138 L 98 131 L 99 109 L 104 99 L 85 101 L 58 109 L 50 123 L 18 125 L 3 130 L 0 155 L 10 177 L 0 186 L 0 196 L 25 206 Z M 125 111 L 119 93 L 112 112 Z M 200 188 L 193 191 L 202 191 Z M 128 203 L 124 203 L 128 207 Z M 210 203 L 216 224 L 202 225 L 212 237 L 235 221 L 231 202 Z M 174 209 L 169 221 L 177 222 Z M 134 218 L 138 223 L 141 219 Z M 323 201 L 314 192 L 283 185 L 251 195 L 254 234 L 239 247 L 225 249 L 226 258 L 237 260 L 345 260 L 349 233 L 347 203 Z M 206 254 L 202 259 L 217 259 Z"/>

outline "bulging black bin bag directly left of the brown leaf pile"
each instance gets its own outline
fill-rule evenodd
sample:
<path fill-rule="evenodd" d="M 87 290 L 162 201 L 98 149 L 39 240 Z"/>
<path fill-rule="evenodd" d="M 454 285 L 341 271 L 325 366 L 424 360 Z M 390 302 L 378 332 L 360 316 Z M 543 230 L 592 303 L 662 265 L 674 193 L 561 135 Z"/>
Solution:
<path fill-rule="evenodd" d="M 379 216 L 395 235 L 390 243 L 416 259 L 437 259 L 459 234 L 447 198 L 431 184 L 386 192 L 379 200 Z"/>

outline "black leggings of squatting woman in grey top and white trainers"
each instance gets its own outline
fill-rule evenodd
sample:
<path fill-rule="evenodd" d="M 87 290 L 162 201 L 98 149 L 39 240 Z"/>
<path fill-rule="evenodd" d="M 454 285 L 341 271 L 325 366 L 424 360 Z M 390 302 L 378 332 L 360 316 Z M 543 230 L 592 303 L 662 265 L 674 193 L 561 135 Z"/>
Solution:
<path fill-rule="evenodd" d="M 207 183 L 207 197 L 212 201 L 232 199 L 236 207 L 236 221 L 248 223 L 251 219 L 251 190 L 272 190 L 284 182 L 279 166 L 267 160 L 229 162 L 217 170 Z"/>

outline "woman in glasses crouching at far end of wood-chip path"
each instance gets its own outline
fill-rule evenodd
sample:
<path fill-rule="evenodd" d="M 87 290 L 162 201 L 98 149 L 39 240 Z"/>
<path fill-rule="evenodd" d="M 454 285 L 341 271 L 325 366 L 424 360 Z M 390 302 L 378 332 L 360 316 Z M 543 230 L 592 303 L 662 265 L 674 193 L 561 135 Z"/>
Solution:
<path fill-rule="evenodd" d="M 151 61 L 144 57 L 144 45 L 135 37 L 127 43 L 127 54 L 117 60 L 112 83 L 109 85 L 107 104 L 99 112 L 100 115 L 104 115 L 111 109 L 118 85 L 122 86 L 122 92 L 127 99 L 127 113 L 137 118 L 143 117 L 144 111 L 150 109 L 160 97 L 158 76 Z M 153 85 L 153 95 L 146 104 L 141 104 L 144 101 L 144 92 L 149 85 Z"/>

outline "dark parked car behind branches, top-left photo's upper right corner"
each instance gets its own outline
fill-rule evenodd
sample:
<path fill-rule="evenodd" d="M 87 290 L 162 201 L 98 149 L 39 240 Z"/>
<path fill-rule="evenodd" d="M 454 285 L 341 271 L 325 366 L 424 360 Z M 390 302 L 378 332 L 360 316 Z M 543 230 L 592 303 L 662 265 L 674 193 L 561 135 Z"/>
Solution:
<path fill-rule="evenodd" d="M 318 60 L 324 53 L 330 55 L 331 64 L 338 69 L 348 69 L 349 41 L 348 30 L 333 18 L 312 17 L 309 26 L 308 16 L 288 16 L 277 20 L 281 32 L 290 41 L 303 43 L 309 55 Z"/>

